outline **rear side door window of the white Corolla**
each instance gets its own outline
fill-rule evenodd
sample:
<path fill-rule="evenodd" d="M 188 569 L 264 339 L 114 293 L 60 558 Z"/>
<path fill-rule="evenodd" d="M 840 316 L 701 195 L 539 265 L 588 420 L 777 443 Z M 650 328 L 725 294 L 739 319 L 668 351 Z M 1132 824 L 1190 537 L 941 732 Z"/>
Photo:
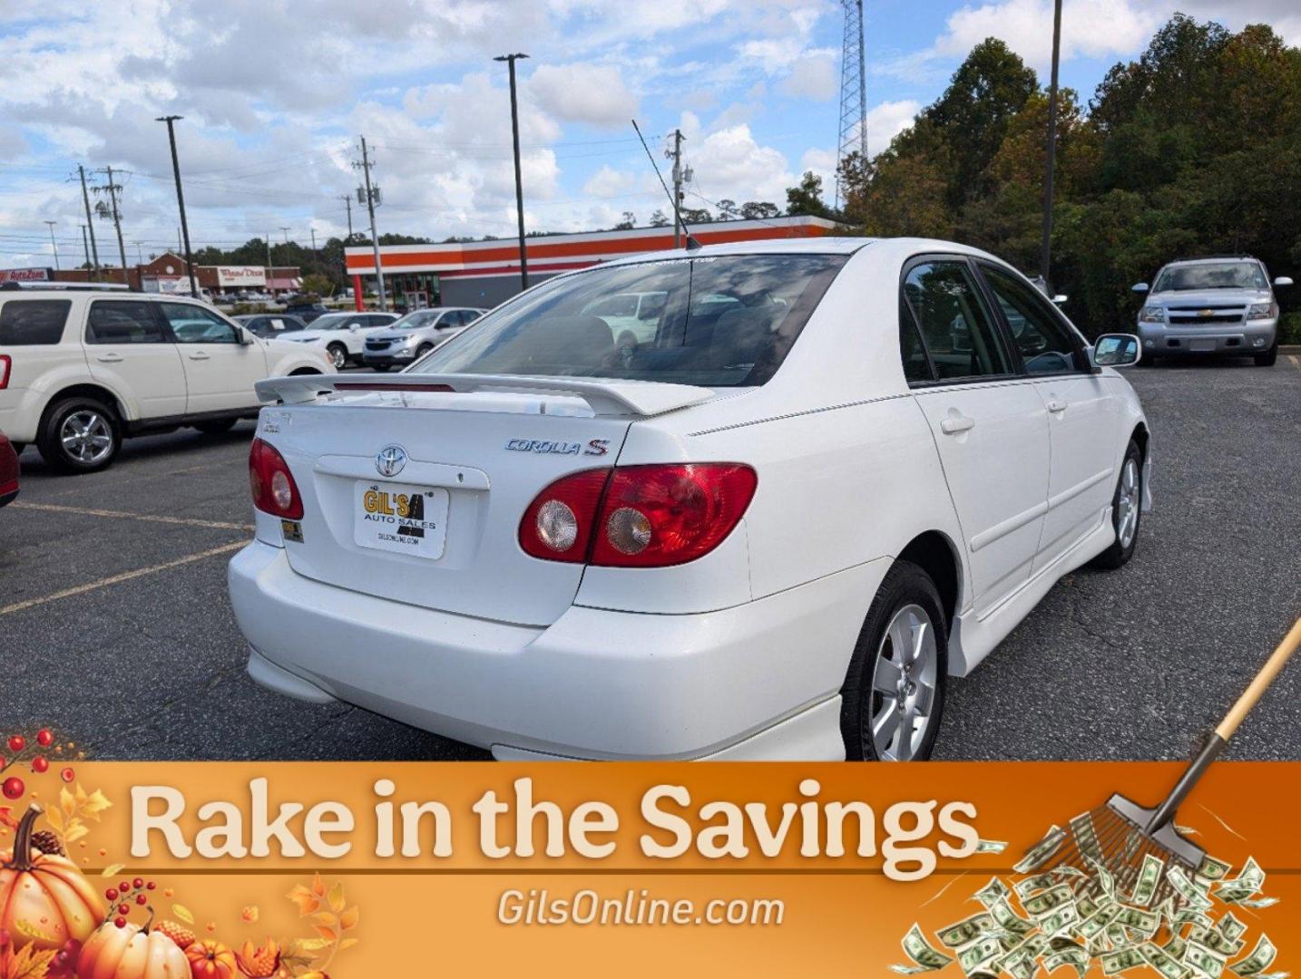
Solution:
<path fill-rule="evenodd" d="M 935 259 L 913 265 L 904 276 L 903 294 L 921 326 L 937 380 L 1011 373 L 965 261 Z"/>

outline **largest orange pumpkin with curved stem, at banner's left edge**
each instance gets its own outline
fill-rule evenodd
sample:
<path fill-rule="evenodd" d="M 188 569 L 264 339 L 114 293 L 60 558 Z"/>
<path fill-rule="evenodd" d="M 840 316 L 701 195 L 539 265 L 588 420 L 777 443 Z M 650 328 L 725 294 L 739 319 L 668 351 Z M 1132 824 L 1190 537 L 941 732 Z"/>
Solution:
<path fill-rule="evenodd" d="M 31 845 L 40 815 L 33 803 L 14 835 L 13 850 L 0 854 L 0 931 L 14 949 L 59 949 L 69 939 L 86 941 L 104 918 L 104 905 L 66 857 Z"/>

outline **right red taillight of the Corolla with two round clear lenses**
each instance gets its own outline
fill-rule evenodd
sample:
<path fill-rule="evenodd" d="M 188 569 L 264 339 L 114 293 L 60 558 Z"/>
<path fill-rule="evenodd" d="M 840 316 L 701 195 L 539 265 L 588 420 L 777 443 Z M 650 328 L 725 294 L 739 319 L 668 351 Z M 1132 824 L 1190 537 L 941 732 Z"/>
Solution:
<path fill-rule="evenodd" d="M 623 465 L 557 480 L 524 511 L 535 558 L 662 568 L 709 554 L 732 532 L 758 477 L 738 463 Z"/>

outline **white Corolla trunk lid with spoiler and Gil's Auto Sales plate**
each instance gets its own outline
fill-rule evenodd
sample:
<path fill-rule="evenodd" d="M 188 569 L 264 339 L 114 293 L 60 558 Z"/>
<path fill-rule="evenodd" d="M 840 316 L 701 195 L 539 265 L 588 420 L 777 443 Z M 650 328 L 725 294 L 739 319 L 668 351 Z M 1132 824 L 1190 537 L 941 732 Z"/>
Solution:
<path fill-rule="evenodd" d="M 341 374 L 259 382 L 264 400 L 281 402 L 263 410 L 259 437 L 284 455 L 303 498 L 303 540 L 285 545 L 294 571 L 520 625 L 548 625 L 569 608 L 584 566 L 527 555 L 518 542 L 520 517 L 550 482 L 614 465 L 641 412 L 609 390 L 626 382 L 490 380 Z M 429 390 L 451 384 L 461 390 Z M 500 390 L 502 384 L 527 390 Z M 569 390 L 584 386 L 585 395 Z M 669 404 L 712 391 L 639 394 Z"/>

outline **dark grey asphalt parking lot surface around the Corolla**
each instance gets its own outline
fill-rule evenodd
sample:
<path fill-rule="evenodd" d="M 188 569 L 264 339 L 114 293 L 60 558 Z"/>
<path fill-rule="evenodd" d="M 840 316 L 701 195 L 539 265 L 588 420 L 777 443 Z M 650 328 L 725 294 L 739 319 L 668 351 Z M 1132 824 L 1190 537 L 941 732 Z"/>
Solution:
<path fill-rule="evenodd" d="M 1134 559 L 1071 575 L 951 681 L 937 757 L 1185 757 L 1301 612 L 1301 356 L 1129 377 L 1157 497 Z M 111 759 L 487 757 L 247 679 L 225 567 L 251 530 L 251 432 L 129 441 L 77 478 L 25 452 L 0 511 L 0 728 L 51 724 Z M 1301 761 L 1301 664 L 1231 754 Z"/>

